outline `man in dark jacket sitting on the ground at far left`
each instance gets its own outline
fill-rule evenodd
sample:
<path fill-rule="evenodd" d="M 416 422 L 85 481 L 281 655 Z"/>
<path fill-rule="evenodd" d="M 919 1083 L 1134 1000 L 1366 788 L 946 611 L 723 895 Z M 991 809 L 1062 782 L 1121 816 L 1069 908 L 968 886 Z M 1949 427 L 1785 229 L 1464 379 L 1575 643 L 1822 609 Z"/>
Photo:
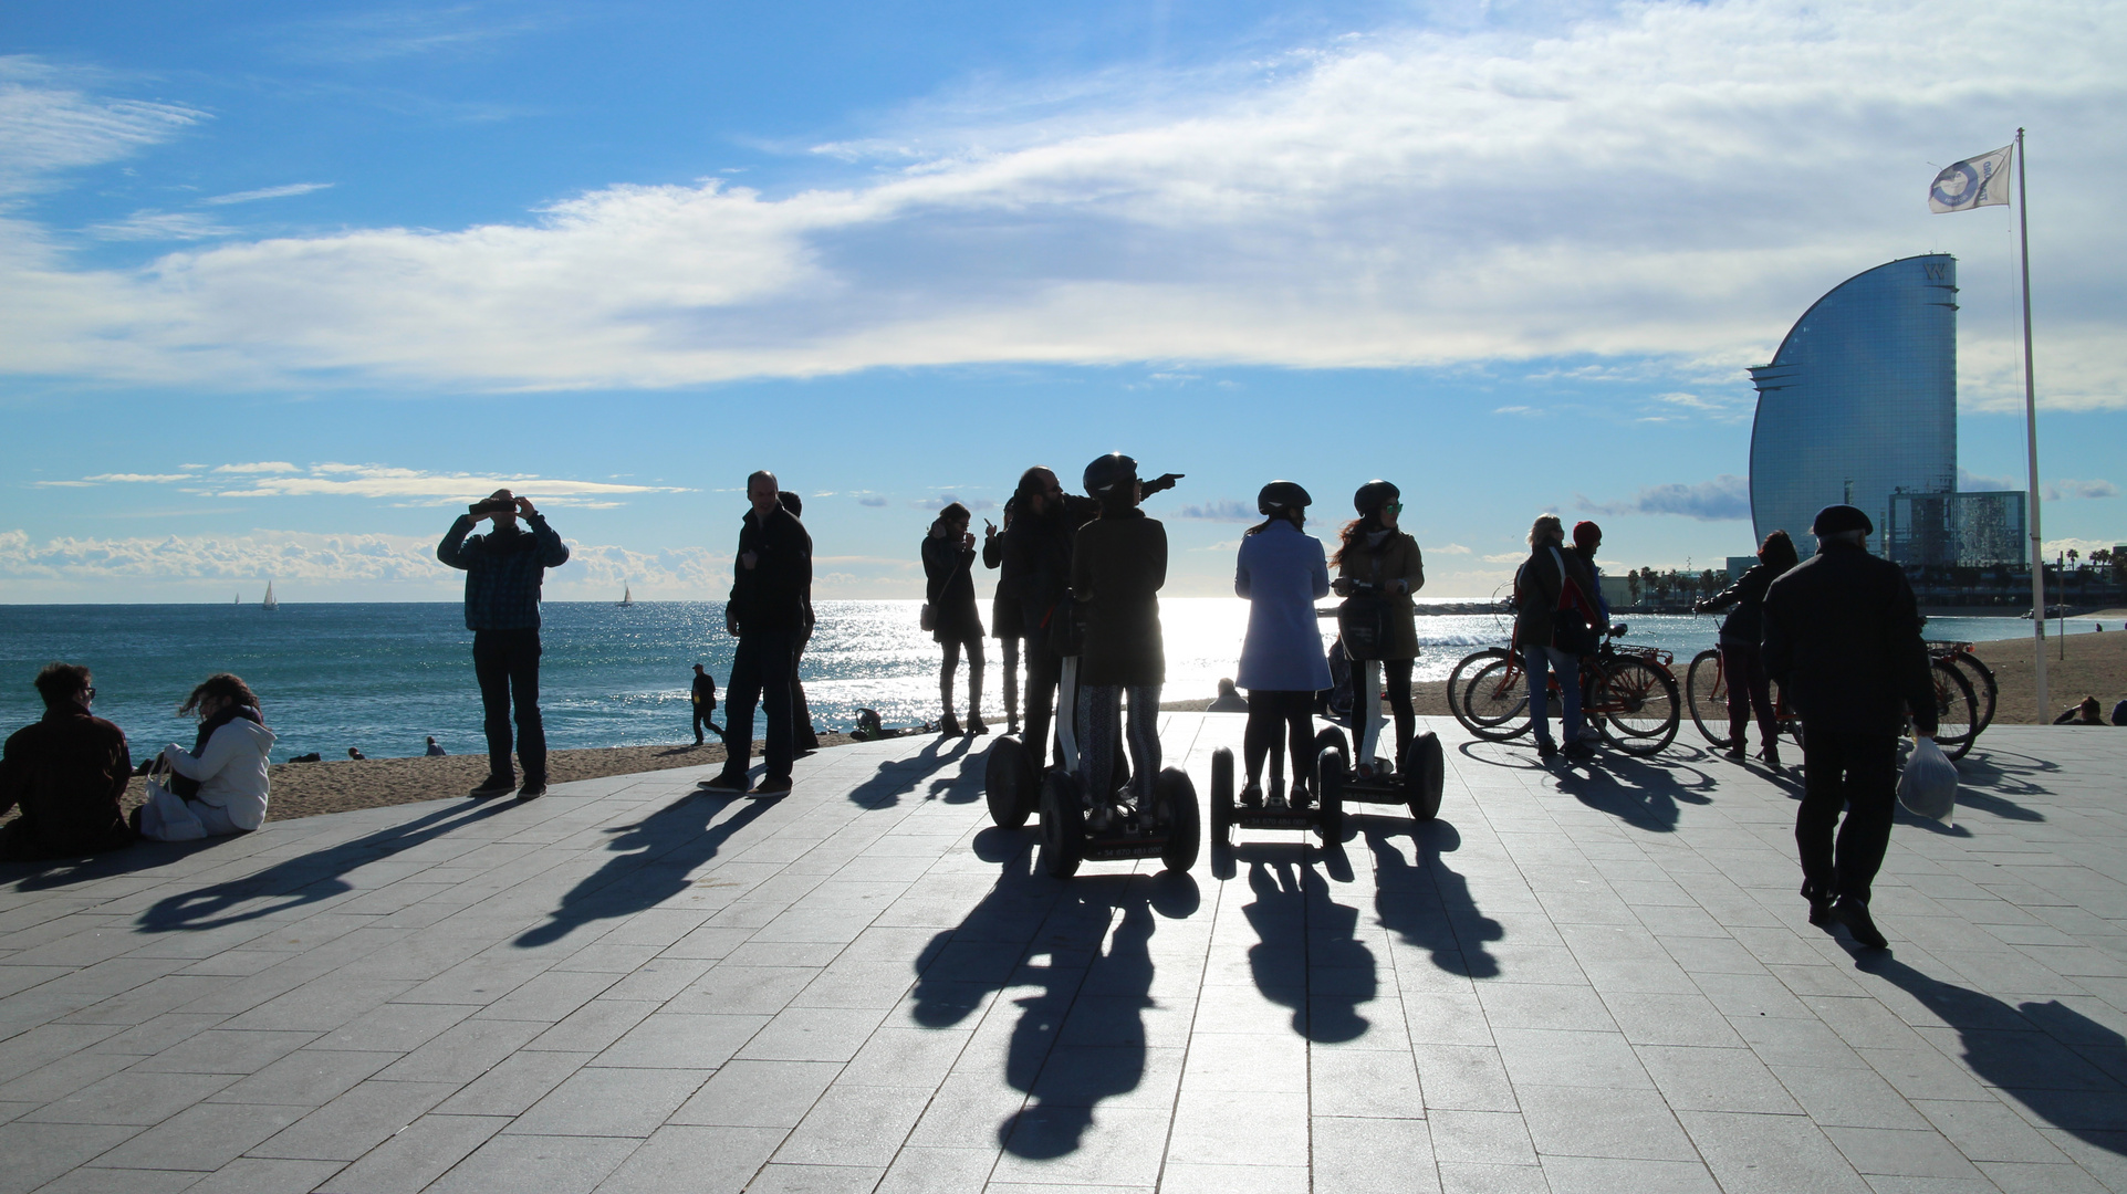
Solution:
<path fill-rule="evenodd" d="M 43 720 L 15 731 L 0 756 L 0 858 L 66 858 L 134 839 L 119 812 L 132 754 L 119 727 L 89 714 L 89 669 L 51 663 L 36 673 Z"/>

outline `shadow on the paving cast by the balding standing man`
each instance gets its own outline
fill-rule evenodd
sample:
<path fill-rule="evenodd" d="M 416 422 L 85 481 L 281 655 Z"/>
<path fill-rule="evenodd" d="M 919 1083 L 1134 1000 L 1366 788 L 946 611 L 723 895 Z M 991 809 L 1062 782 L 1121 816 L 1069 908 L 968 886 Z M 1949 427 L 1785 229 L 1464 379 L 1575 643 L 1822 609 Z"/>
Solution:
<path fill-rule="evenodd" d="M 581 924 L 634 916 L 685 892 L 691 884 L 687 875 L 715 858 L 734 833 L 753 824 L 778 799 L 689 792 L 634 824 L 608 829 L 606 833 L 615 837 L 606 850 L 613 850 L 615 856 L 570 888 L 562 897 L 562 907 L 553 909 L 545 924 L 519 933 L 517 945 L 549 945 Z M 744 803 L 744 807 L 717 822 L 717 814 L 734 803 Z"/>

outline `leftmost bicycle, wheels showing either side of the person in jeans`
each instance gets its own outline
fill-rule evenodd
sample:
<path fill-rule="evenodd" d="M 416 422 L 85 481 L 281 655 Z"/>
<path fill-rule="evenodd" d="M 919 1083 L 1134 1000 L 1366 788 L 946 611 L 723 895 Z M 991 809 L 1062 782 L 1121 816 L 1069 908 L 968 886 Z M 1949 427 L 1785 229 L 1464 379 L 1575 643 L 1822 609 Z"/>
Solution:
<path fill-rule="evenodd" d="M 1595 654 L 1580 659 L 1578 682 L 1587 693 L 1582 714 L 1604 741 L 1625 754 L 1659 754 L 1676 739 L 1676 727 L 1682 722 L 1676 673 L 1670 671 L 1670 661 L 1676 656 L 1655 646 L 1619 644 L 1617 637 L 1625 629 L 1623 622 L 1610 627 Z M 1521 654 L 1500 648 L 1476 654 L 1489 654 L 1491 663 L 1478 667 L 1463 684 L 1457 720 L 1489 741 L 1508 741 L 1529 733 L 1534 722 Z M 1551 676 L 1548 690 L 1561 693 L 1557 673 Z M 1453 701 L 1448 707 L 1455 707 Z"/>

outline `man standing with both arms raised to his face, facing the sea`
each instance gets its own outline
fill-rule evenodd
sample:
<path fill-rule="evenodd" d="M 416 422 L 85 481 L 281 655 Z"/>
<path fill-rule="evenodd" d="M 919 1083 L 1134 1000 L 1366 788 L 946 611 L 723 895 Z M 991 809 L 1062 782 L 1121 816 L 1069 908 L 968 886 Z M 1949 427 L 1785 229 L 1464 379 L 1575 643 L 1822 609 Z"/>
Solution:
<path fill-rule="evenodd" d="M 517 525 L 523 518 L 532 529 Z M 485 535 L 472 535 L 483 518 Z M 470 535 L 470 538 L 468 538 Z M 568 563 L 568 544 L 553 533 L 530 497 L 508 489 L 476 501 L 451 523 L 436 559 L 466 572 L 466 629 L 472 631 L 472 673 L 487 712 L 487 778 L 474 799 L 517 788 L 510 767 L 510 712 L 517 714 L 517 758 L 525 765 L 519 801 L 547 795 L 547 727 L 538 716 L 538 593 L 549 567 Z"/>

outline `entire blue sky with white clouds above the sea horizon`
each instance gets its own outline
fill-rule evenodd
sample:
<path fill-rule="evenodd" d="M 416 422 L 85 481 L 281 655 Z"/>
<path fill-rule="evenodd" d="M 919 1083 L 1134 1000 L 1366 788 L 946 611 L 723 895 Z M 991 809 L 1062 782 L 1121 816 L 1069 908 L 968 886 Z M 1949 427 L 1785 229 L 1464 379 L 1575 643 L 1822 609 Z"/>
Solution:
<path fill-rule="evenodd" d="M 464 501 L 549 599 L 715 599 L 744 476 L 817 595 L 1019 472 L 1180 472 L 1168 593 L 1253 495 L 1389 478 L 1427 595 L 1540 512 L 1617 567 L 1751 550 L 1744 368 L 1840 280 L 1959 259 L 1959 465 L 2127 540 L 2127 8 L 1091 0 L 9 0 L 0 601 L 436 601 Z M 985 584 L 987 591 L 987 584 Z"/>

